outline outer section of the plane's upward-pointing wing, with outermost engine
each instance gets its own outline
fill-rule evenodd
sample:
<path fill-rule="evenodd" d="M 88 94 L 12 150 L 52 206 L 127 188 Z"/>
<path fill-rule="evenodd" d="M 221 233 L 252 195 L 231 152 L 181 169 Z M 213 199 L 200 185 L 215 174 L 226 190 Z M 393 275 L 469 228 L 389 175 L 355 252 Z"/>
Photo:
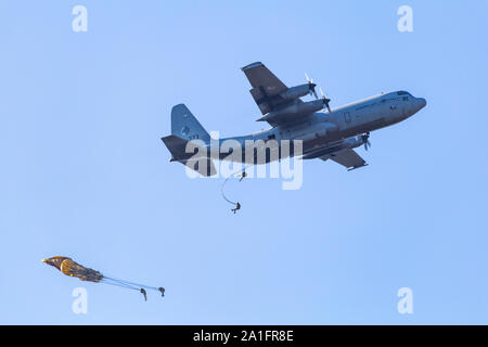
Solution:
<path fill-rule="evenodd" d="M 303 102 L 299 98 L 295 100 L 281 98 L 280 93 L 288 88 L 265 64 L 253 63 L 244 66 L 242 70 L 253 86 L 251 94 L 264 115 L 282 106 Z"/>

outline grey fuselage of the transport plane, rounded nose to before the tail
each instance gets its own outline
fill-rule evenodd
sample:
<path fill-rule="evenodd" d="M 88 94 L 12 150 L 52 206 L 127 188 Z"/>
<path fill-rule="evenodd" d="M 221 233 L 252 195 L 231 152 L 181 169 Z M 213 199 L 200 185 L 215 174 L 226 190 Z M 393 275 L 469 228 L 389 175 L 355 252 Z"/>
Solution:
<path fill-rule="evenodd" d="M 220 139 L 219 144 L 226 141 L 239 143 L 242 155 L 230 155 L 223 151 L 219 158 L 246 164 L 264 164 L 256 163 L 256 155 L 252 160 L 248 156 L 246 159 L 245 156 L 246 151 L 254 151 L 251 146 L 259 140 L 265 143 L 275 140 L 280 146 L 282 140 L 301 140 L 304 158 L 314 158 L 329 152 L 354 149 L 364 143 L 362 134 L 402 121 L 423 108 L 425 104 L 425 99 L 415 98 L 404 91 L 383 93 L 334 108 L 332 114 L 326 111 L 316 112 L 299 118 L 296 123 L 278 125 L 248 136 Z M 232 153 L 235 154 L 235 152 Z M 283 158 L 281 154 L 280 158 Z M 272 159 L 272 156 L 267 155 L 266 163 Z"/>

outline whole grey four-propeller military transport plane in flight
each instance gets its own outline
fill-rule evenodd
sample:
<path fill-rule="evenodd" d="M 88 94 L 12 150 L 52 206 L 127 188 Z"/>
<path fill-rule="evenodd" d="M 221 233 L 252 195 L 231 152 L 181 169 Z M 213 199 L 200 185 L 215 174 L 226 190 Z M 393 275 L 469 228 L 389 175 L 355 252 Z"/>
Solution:
<path fill-rule="evenodd" d="M 331 110 L 331 100 L 325 98 L 321 89 L 322 98 L 317 95 L 317 85 L 308 76 L 307 83 L 288 88 L 260 62 L 244 66 L 242 70 L 253 87 L 251 94 L 262 113 L 262 117 L 257 120 L 267 121 L 271 128 L 248 136 L 219 139 L 219 147 L 224 141 L 232 140 L 240 144 L 242 153 L 234 153 L 230 149 L 213 155 L 210 147 L 216 141 L 210 139 L 190 110 L 179 104 L 171 111 L 171 134 L 162 139 L 172 155 L 170 162 L 188 165 L 202 176 L 213 176 L 217 172 L 213 159 L 248 165 L 273 160 L 267 153 L 265 162 L 257 163 L 255 147 L 249 149 L 249 143 L 254 146 L 257 141 L 266 144 L 272 140 L 274 143 L 290 140 L 293 144 L 293 141 L 301 140 L 299 154 L 303 159 L 331 159 L 352 170 L 368 165 L 354 149 L 364 145 L 368 150 L 371 131 L 402 121 L 426 105 L 423 98 L 415 98 L 407 91 L 395 91 Z M 313 95 L 316 100 L 304 102 L 300 98 L 307 94 Z M 198 144 L 188 151 L 191 142 Z M 204 154 L 190 164 L 190 159 L 194 159 L 195 147 Z M 280 155 L 274 160 L 282 158 L 281 147 L 280 144 Z M 245 156 L 246 150 L 253 151 L 254 155 Z"/>

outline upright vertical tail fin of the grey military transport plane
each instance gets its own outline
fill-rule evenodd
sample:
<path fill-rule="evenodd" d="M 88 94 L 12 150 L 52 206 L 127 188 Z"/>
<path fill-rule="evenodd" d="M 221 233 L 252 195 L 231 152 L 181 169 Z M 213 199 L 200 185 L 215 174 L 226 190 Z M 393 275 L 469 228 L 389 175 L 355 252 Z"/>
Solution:
<path fill-rule="evenodd" d="M 196 120 L 184 104 L 178 104 L 171 110 L 171 133 L 184 140 L 210 141 L 207 130 Z"/>

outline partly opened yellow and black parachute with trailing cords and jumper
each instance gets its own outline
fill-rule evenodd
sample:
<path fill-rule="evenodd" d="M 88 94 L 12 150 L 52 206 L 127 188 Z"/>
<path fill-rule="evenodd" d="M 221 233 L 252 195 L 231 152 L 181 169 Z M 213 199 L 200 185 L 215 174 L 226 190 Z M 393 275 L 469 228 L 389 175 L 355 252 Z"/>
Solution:
<path fill-rule="evenodd" d="M 155 286 L 149 286 L 145 284 L 140 283 L 133 283 L 125 280 L 119 279 L 113 279 L 108 278 L 104 274 L 102 274 L 100 271 L 86 268 L 82 265 L 79 265 L 78 262 L 74 261 L 72 258 L 68 257 L 51 257 L 47 259 L 42 259 L 42 262 L 46 262 L 47 265 L 50 265 L 61 272 L 63 272 L 66 275 L 69 275 L 72 278 L 78 278 L 81 281 L 89 281 L 89 282 L 95 282 L 95 283 L 105 283 L 111 285 L 120 286 L 128 290 L 134 290 L 139 291 L 144 295 L 144 299 L 147 299 L 146 291 L 145 290 L 152 290 L 159 292 L 163 296 L 165 296 L 165 288 L 164 287 L 155 287 Z"/>

